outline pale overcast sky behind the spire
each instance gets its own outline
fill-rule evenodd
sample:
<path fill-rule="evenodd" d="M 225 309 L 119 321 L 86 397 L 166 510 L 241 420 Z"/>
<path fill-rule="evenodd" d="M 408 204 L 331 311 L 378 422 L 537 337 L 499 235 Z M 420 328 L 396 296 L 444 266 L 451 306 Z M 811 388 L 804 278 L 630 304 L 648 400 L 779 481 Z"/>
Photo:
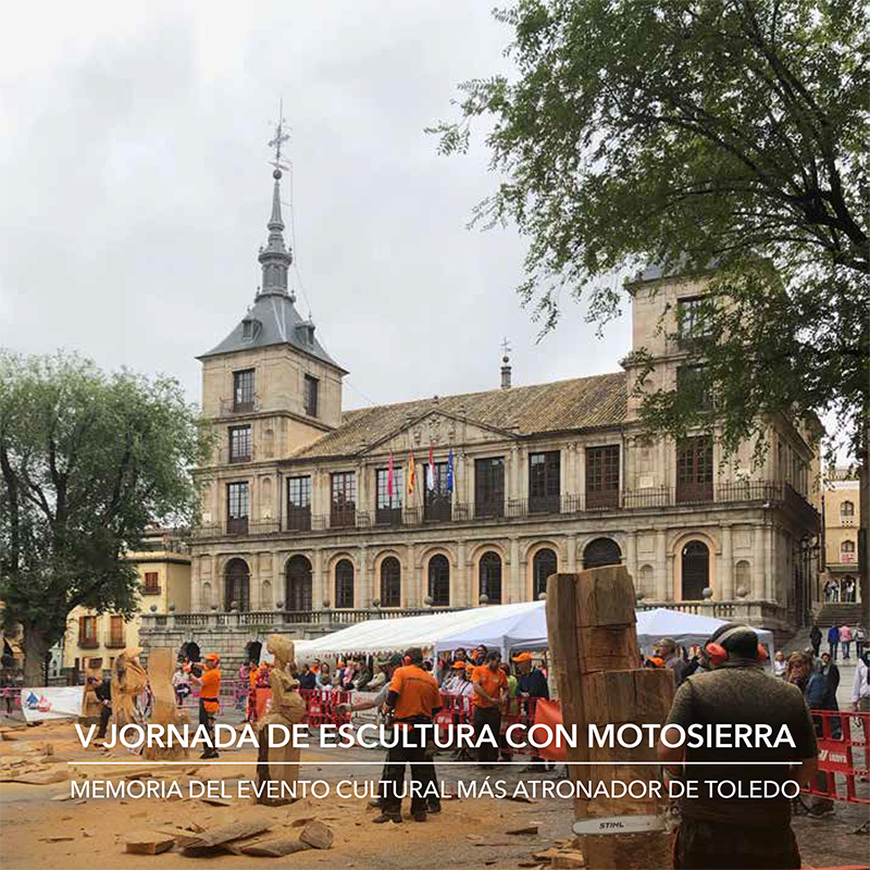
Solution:
<path fill-rule="evenodd" d="M 283 97 L 293 285 L 350 371 L 345 407 L 494 388 L 504 336 L 514 384 L 618 370 L 624 319 L 601 340 L 572 303 L 535 344 L 522 240 L 467 228 L 497 181 L 480 137 L 442 158 L 423 133 L 453 116 L 459 82 L 506 69 L 509 35 L 483 2 L 16 5 L 0 29 L 0 345 L 165 372 L 198 401 L 194 357 L 259 283 Z"/>

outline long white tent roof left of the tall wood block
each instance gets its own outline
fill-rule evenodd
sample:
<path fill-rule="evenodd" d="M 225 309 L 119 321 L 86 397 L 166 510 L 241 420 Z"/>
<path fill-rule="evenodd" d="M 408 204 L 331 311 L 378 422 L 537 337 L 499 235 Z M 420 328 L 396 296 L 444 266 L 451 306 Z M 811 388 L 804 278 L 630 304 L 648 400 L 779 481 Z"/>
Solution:
<path fill-rule="evenodd" d="M 421 617 L 371 619 L 314 641 L 297 641 L 296 660 L 301 662 L 318 656 L 337 654 L 372 655 L 403 651 L 410 646 L 420 646 L 426 649 L 438 648 L 438 642 L 445 637 L 458 632 L 473 632 L 478 626 L 481 626 L 482 633 L 488 633 L 488 630 L 483 626 L 502 620 L 515 621 L 529 611 L 539 610 L 542 605 L 542 601 L 523 601 L 515 605 L 493 605 Z M 545 637 L 546 633 L 545 625 Z M 457 646 L 462 646 L 462 644 L 457 644 Z M 452 648 L 456 649 L 456 646 Z"/>

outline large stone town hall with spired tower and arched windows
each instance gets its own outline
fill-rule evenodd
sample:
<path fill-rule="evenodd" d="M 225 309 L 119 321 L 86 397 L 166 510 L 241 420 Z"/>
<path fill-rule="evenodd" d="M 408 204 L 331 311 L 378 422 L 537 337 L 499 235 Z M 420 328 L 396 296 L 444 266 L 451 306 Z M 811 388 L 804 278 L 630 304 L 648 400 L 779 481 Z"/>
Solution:
<path fill-rule="evenodd" d="M 645 439 L 631 356 L 620 372 L 536 386 L 510 386 L 505 360 L 498 389 L 344 411 L 346 371 L 288 288 L 275 174 L 262 286 L 199 358 L 219 446 L 199 470 L 191 612 L 146 617 L 153 638 L 228 632 L 232 646 L 274 625 L 304 636 L 523 601 L 554 571 L 617 561 L 644 607 L 781 632 L 806 621 L 815 425 L 771 420 L 760 465 L 753 445 L 724 461 L 714 432 Z M 704 278 L 648 270 L 630 289 L 632 349 L 654 357 L 650 385 L 675 388 Z"/>

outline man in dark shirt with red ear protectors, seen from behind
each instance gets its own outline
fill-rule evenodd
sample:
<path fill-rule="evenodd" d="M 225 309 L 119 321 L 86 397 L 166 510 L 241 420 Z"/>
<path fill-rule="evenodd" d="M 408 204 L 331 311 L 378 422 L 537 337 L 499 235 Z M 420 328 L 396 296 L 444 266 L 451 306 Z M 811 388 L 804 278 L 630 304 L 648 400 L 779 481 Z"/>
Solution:
<path fill-rule="evenodd" d="M 819 754 L 804 696 L 765 672 L 767 650 L 748 625 L 717 629 L 703 655 L 709 670 L 676 689 L 667 725 L 678 728 L 666 725 L 658 746 L 668 774 L 683 781 L 671 791 L 681 811 L 674 870 L 794 870 L 790 795 L 810 781 Z M 680 733 L 687 739 L 674 746 Z"/>

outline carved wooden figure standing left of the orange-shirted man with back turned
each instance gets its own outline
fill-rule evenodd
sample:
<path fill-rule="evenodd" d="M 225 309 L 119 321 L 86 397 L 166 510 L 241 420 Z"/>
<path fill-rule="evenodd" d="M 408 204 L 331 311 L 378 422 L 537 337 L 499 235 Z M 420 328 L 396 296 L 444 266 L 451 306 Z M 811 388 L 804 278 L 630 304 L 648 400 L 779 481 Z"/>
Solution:
<path fill-rule="evenodd" d="M 259 722 L 257 780 L 260 795 L 257 803 L 276 807 L 294 800 L 289 795 L 282 796 L 281 792 L 284 787 L 282 783 L 287 783 L 291 788 L 296 785 L 299 776 L 299 749 L 293 745 L 291 739 L 285 746 L 270 747 L 269 725 L 284 725 L 293 732 L 293 726 L 301 722 L 306 714 L 306 703 L 297 692 L 299 681 L 290 673 L 296 669 L 293 641 L 272 634 L 269 636 L 268 649 L 275 657 L 275 667 L 270 679 L 272 709 Z M 274 763 L 276 761 L 284 763 Z M 270 780 L 275 783 L 272 786 L 272 796 L 269 795 L 269 786 L 265 784 Z"/>

